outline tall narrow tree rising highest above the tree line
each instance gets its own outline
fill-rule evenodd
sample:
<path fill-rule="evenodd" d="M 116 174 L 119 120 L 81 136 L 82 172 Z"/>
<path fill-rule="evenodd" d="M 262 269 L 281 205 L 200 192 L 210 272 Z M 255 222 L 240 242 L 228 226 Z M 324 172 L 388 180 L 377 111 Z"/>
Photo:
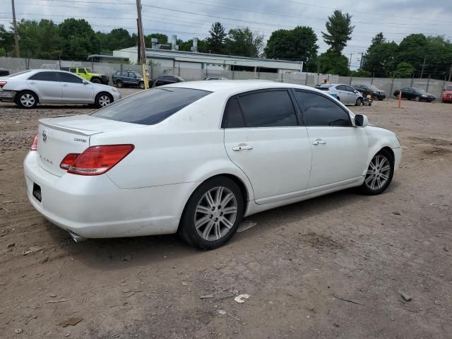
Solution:
<path fill-rule="evenodd" d="M 330 45 L 334 52 L 342 52 L 347 46 L 347 41 L 352 39 L 352 32 L 355 26 L 352 26 L 352 16 L 349 13 L 343 14 L 342 11 L 334 11 L 332 16 L 328 16 L 326 22 L 326 31 L 322 32 L 323 41 Z"/>

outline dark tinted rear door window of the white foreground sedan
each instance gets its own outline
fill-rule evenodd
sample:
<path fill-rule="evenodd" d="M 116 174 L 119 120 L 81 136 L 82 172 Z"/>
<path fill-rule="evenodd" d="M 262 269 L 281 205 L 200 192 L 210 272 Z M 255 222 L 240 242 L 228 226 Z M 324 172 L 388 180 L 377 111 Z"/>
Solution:
<path fill-rule="evenodd" d="M 268 90 L 239 97 L 246 127 L 297 126 L 286 90 Z"/>

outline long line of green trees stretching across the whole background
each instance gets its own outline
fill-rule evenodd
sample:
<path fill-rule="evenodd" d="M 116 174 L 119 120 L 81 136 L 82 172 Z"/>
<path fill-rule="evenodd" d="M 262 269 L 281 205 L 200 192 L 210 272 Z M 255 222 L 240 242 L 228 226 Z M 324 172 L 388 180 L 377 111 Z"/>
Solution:
<path fill-rule="evenodd" d="M 452 43 L 444 36 L 412 34 L 399 44 L 389 42 L 380 32 L 362 55 L 359 69 L 351 71 L 350 60 L 343 55 L 347 42 L 352 39 L 352 16 L 334 11 L 328 16 L 323 41 L 328 44 L 326 52 L 319 54 L 319 37 L 309 26 L 297 26 L 292 30 L 275 30 L 267 42 L 261 33 L 251 28 L 225 30 L 220 22 L 213 23 L 206 39 L 198 40 L 198 52 L 264 57 L 290 61 L 303 61 L 304 71 L 331 73 L 340 76 L 375 76 L 408 78 L 413 75 L 444 78 L 452 64 Z M 88 21 L 68 18 L 57 24 L 42 19 L 18 21 L 20 54 L 35 59 L 85 60 L 89 54 L 108 53 L 136 45 L 136 33 L 124 28 L 110 32 L 95 32 Z M 168 44 L 168 36 L 161 33 L 145 35 L 145 44 L 151 38 Z M 192 40 L 177 40 L 179 50 L 190 51 Z M 14 38 L 10 28 L 0 25 L 0 56 L 14 55 Z M 353 67 L 353 68 L 355 68 Z"/>

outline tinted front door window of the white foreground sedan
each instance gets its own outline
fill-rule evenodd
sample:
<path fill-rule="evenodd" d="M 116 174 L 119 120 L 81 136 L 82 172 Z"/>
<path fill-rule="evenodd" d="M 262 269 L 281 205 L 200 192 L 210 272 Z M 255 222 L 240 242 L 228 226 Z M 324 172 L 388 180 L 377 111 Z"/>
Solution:
<path fill-rule="evenodd" d="M 303 109 L 306 126 L 352 126 L 349 114 L 333 100 L 301 91 L 296 91 L 295 97 Z"/>

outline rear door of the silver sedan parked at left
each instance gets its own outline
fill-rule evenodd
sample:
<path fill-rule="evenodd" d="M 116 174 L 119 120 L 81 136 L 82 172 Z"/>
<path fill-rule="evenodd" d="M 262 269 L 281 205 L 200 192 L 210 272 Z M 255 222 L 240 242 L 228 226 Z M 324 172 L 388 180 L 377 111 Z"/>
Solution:
<path fill-rule="evenodd" d="M 61 83 L 57 72 L 42 71 L 27 79 L 28 87 L 37 93 L 40 102 L 61 102 Z"/>

